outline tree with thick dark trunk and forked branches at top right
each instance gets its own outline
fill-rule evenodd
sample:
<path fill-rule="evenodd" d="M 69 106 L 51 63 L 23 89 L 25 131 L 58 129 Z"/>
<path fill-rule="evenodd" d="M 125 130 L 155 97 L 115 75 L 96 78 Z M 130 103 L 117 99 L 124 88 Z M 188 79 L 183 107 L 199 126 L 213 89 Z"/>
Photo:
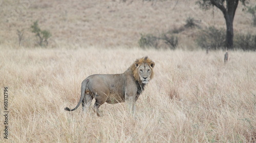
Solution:
<path fill-rule="evenodd" d="M 226 21 L 226 47 L 227 49 L 233 49 L 233 20 L 234 14 L 236 13 L 239 1 L 245 5 L 246 0 L 200 0 L 197 4 L 202 9 L 209 9 L 210 6 L 215 6 L 221 10 Z M 226 6 L 225 6 L 226 4 Z"/>

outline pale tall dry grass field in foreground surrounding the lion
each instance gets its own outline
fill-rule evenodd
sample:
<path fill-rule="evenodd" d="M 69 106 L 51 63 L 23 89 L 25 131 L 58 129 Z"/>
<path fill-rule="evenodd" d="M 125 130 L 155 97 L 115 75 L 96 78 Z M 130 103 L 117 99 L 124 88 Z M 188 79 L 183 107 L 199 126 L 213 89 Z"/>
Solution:
<path fill-rule="evenodd" d="M 1 107 L 3 87 L 9 88 L 10 134 L 5 141 L 256 141 L 255 52 L 229 51 L 224 65 L 224 51 L 0 49 Z M 134 118 L 126 114 L 124 103 L 103 104 L 100 118 L 83 116 L 81 107 L 64 110 L 77 104 L 84 78 L 122 73 L 145 55 L 155 61 L 156 76 L 137 101 Z"/>

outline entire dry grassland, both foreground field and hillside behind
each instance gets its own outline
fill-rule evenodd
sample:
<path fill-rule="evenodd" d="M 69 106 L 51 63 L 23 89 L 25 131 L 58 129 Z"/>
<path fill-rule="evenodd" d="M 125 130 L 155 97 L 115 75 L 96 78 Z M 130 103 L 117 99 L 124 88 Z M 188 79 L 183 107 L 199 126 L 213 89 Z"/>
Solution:
<path fill-rule="evenodd" d="M 0 142 L 256 142 L 255 52 L 228 51 L 224 64 L 226 51 L 206 54 L 195 44 L 198 28 L 179 33 L 175 50 L 138 47 L 141 34 L 179 28 L 187 17 L 225 28 L 218 9 L 195 2 L 0 1 Z M 234 33 L 255 34 L 243 8 Z M 48 47 L 35 43 L 35 20 L 52 34 Z M 123 73 L 146 55 L 155 76 L 134 116 L 125 103 L 103 104 L 103 117 L 64 110 L 77 105 L 84 78 Z"/>

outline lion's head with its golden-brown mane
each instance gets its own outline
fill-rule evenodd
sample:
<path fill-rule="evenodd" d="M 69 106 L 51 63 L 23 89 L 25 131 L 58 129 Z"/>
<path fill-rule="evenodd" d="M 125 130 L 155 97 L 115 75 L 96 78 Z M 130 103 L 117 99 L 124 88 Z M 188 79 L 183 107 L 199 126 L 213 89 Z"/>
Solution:
<path fill-rule="evenodd" d="M 148 83 L 148 81 L 153 78 L 154 66 L 155 62 L 145 56 L 145 58 L 137 59 L 130 69 L 133 71 L 133 76 L 136 81 Z"/>

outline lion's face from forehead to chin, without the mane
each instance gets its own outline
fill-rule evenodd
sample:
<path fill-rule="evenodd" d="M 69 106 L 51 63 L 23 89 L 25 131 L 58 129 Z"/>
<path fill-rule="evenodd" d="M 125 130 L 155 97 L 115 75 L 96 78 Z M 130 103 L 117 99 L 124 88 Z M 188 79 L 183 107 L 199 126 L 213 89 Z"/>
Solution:
<path fill-rule="evenodd" d="M 142 83 L 148 83 L 152 74 L 152 67 L 148 64 L 142 64 L 138 67 L 138 74 Z"/>

